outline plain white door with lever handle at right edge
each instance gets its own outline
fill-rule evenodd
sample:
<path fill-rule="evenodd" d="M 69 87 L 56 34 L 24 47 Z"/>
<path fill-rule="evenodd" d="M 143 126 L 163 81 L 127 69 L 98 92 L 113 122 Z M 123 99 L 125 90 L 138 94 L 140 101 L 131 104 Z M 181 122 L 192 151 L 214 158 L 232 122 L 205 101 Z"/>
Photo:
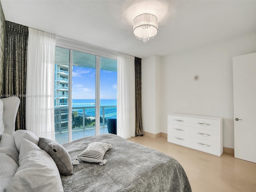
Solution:
<path fill-rule="evenodd" d="M 233 57 L 235 158 L 256 163 L 256 53 Z"/>

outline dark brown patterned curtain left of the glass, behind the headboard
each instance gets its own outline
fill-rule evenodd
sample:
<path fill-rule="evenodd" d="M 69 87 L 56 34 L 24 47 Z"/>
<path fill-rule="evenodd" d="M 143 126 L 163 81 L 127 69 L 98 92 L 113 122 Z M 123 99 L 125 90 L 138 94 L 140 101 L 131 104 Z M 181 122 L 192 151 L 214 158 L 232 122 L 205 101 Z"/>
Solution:
<path fill-rule="evenodd" d="M 15 129 L 26 129 L 26 68 L 28 27 L 6 21 L 4 95 L 20 98 Z"/>

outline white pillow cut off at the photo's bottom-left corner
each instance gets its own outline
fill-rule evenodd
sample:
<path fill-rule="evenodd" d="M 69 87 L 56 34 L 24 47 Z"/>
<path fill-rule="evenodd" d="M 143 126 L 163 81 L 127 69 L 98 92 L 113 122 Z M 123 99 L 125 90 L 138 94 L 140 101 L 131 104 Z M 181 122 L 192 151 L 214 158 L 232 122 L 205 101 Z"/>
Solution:
<path fill-rule="evenodd" d="M 0 192 L 5 192 L 11 178 L 18 169 L 18 165 L 12 158 L 4 153 L 0 153 L 0 162 Z"/>

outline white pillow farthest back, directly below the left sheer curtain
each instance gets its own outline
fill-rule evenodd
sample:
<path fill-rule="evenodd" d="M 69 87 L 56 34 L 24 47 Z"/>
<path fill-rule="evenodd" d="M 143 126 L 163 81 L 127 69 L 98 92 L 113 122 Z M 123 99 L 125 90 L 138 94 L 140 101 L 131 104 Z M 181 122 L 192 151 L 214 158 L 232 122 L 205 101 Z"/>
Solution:
<path fill-rule="evenodd" d="M 15 140 L 15 145 L 16 145 L 18 152 L 20 152 L 20 144 L 22 143 L 23 138 L 38 145 L 38 138 L 36 137 L 36 135 L 33 132 L 28 131 L 28 130 L 16 130 L 14 132 L 14 140 Z"/>

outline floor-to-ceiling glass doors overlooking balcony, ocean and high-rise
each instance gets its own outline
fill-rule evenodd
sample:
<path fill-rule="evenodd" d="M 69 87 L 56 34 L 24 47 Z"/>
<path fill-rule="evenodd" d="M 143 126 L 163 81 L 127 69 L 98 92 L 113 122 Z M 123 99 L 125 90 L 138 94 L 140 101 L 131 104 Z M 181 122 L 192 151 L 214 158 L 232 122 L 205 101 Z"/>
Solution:
<path fill-rule="evenodd" d="M 117 60 L 56 47 L 55 138 L 59 143 L 108 133 L 116 118 Z"/>

